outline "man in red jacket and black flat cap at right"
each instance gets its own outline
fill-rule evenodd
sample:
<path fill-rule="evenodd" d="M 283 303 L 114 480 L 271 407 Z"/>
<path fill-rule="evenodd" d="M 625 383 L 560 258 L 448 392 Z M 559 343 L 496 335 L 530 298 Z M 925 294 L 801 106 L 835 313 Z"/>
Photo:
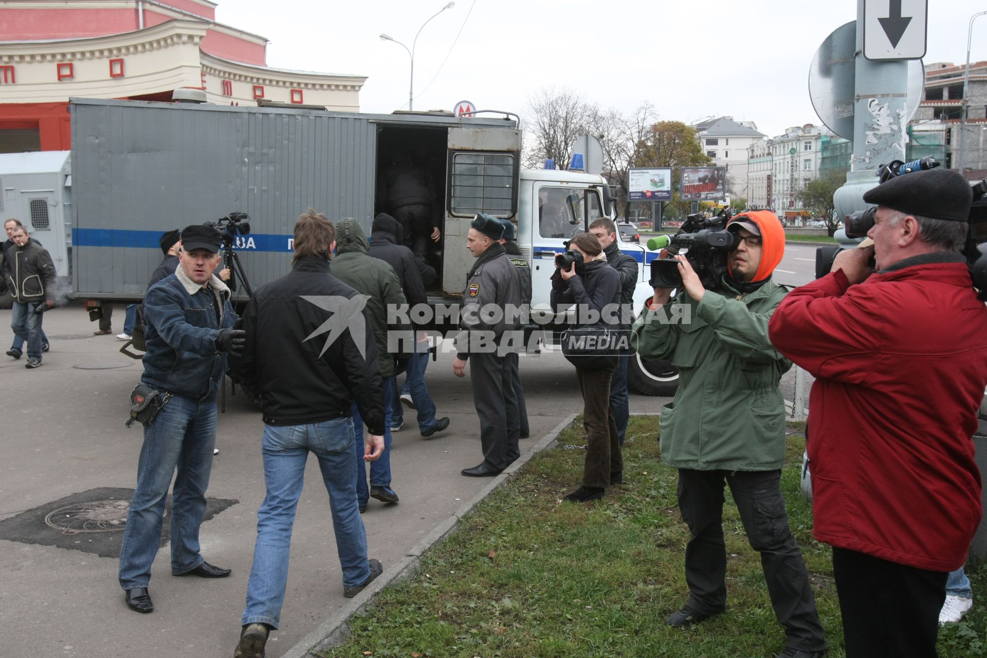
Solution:
<path fill-rule="evenodd" d="M 958 253 L 971 197 L 946 170 L 869 190 L 873 247 L 840 253 L 769 325 L 775 347 L 816 378 L 813 533 L 833 547 L 847 658 L 936 656 L 947 574 L 980 522 L 971 436 L 987 309 Z"/>

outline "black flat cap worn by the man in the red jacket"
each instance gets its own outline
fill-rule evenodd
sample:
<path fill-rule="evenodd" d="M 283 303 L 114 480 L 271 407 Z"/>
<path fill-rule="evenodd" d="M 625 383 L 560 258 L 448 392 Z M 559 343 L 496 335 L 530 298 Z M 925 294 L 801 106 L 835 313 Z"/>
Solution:
<path fill-rule="evenodd" d="M 970 216 L 970 183 L 949 169 L 902 174 L 864 193 L 868 203 L 909 215 L 965 222 Z"/>

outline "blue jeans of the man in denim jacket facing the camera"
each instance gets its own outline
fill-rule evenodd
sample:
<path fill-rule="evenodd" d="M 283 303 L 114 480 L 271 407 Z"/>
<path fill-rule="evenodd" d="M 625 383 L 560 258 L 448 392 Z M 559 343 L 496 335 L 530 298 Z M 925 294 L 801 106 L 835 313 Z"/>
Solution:
<path fill-rule="evenodd" d="M 172 396 L 154 422 L 144 427 L 137 462 L 137 486 L 130 500 L 120 545 L 119 580 L 125 590 L 147 587 L 161 542 L 165 498 L 172 475 L 172 573 L 201 564 L 198 528 L 205 514 L 205 489 L 216 443 L 216 402 Z"/>

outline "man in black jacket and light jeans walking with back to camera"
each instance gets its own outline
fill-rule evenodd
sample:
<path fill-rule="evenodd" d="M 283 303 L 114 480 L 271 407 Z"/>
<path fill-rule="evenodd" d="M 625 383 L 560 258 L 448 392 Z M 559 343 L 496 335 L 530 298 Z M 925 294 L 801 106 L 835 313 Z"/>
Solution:
<path fill-rule="evenodd" d="M 263 656 L 267 634 L 280 622 L 309 452 L 319 459 L 333 509 L 342 595 L 356 596 L 383 572 L 378 560 L 367 559 L 353 469 L 353 398 L 368 429 L 363 459 L 375 461 L 384 450 L 384 399 L 366 300 L 330 273 L 336 229 L 326 217 L 308 210 L 294 239 L 291 272 L 259 288 L 247 305 L 247 345 L 232 362 L 244 387 L 260 393 L 265 422 L 267 495 L 234 654 L 242 658 Z"/>

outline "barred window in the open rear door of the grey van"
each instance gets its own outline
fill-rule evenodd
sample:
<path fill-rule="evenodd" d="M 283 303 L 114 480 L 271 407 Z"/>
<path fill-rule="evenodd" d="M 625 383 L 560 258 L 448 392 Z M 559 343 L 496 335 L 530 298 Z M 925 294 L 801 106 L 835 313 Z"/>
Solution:
<path fill-rule="evenodd" d="M 450 159 L 449 211 L 472 217 L 486 212 L 510 217 L 517 190 L 515 157 L 510 153 L 453 153 Z"/>

